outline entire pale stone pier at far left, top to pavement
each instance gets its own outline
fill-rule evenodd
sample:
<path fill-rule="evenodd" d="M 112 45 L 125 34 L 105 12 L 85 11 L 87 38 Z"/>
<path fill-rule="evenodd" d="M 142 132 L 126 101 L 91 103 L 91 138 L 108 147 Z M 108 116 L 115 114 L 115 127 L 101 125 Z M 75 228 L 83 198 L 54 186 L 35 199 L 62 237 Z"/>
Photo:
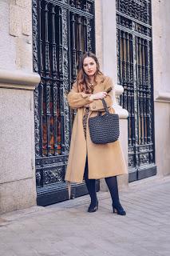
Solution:
<path fill-rule="evenodd" d="M 36 205 L 31 6 L 0 2 L 0 213 Z"/>

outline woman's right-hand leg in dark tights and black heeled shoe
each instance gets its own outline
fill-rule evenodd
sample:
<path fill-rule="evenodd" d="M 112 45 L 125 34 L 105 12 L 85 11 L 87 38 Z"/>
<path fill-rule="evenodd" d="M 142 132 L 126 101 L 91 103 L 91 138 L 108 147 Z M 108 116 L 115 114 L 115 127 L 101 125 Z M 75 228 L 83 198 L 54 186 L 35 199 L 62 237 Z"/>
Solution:
<path fill-rule="evenodd" d="M 125 215 L 126 212 L 125 212 L 124 208 L 121 206 L 121 202 L 119 200 L 117 176 L 105 178 L 105 182 L 109 188 L 109 192 L 110 192 L 111 198 L 113 200 L 113 213 Z"/>

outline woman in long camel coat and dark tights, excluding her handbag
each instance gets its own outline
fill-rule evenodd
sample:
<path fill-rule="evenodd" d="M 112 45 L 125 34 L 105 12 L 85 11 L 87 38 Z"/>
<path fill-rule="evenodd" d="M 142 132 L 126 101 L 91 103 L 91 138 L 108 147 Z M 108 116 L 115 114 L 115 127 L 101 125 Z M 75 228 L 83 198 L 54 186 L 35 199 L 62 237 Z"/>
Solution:
<path fill-rule="evenodd" d="M 104 111 L 102 98 L 105 98 L 109 112 L 114 113 L 112 88 L 112 80 L 101 73 L 97 57 L 92 53 L 84 54 L 77 81 L 68 94 L 69 106 L 77 109 L 77 115 L 73 122 L 65 180 L 82 182 L 85 178 L 91 198 L 88 211 L 92 213 L 98 209 L 96 179 L 105 178 L 113 200 L 113 213 L 125 215 L 117 186 L 117 175 L 127 173 L 120 142 L 94 144 L 89 136 L 88 118 Z"/>

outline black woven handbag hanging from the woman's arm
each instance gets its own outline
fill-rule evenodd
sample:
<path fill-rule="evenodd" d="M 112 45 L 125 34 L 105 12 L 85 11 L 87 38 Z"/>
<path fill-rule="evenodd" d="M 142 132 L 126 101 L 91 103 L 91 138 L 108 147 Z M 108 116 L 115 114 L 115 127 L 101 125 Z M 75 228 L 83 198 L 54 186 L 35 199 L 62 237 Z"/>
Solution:
<path fill-rule="evenodd" d="M 95 144 L 116 142 L 120 135 L 118 114 L 110 114 L 104 98 L 102 102 L 106 113 L 89 118 L 89 134 Z"/>

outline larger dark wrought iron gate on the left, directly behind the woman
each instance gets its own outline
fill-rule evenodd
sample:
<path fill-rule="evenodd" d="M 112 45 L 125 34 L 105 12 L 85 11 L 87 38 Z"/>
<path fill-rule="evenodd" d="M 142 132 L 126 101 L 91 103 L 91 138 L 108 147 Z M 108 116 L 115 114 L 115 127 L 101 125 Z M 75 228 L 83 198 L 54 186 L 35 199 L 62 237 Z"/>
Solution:
<path fill-rule="evenodd" d="M 94 52 L 93 0 L 33 0 L 35 154 L 38 205 L 68 198 L 64 177 L 73 112 L 66 101 L 81 55 Z M 73 186 L 72 196 L 87 192 Z"/>

